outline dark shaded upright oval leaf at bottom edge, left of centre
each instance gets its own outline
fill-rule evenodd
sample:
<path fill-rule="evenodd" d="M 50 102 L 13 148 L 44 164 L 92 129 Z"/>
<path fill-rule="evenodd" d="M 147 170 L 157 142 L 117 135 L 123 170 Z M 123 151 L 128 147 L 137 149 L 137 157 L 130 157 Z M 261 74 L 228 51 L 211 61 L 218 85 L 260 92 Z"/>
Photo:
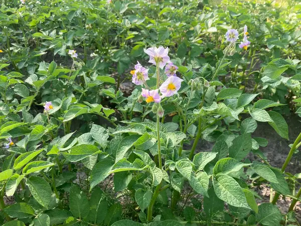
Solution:
<path fill-rule="evenodd" d="M 89 206 L 89 221 L 93 222 L 94 224 L 101 224 L 107 214 L 108 204 L 103 192 L 99 187 L 96 187 L 92 192 Z"/>

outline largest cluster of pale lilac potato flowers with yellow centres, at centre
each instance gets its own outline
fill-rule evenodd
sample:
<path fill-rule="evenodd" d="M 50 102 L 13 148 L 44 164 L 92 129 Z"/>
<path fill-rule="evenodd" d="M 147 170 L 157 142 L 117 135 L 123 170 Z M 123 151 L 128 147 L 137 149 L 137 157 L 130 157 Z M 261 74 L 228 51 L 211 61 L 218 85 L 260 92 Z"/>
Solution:
<path fill-rule="evenodd" d="M 161 85 L 158 84 L 157 87 L 159 88 L 150 90 L 145 82 L 149 79 L 148 69 L 144 68 L 139 62 L 137 62 L 135 65 L 135 70 L 130 72 L 132 74 L 132 82 L 136 85 L 144 85 L 147 88 L 142 88 L 141 93 L 142 97 L 145 98 L 147 103 L 160 103 L 164 97 L 170 97 L 178 92 L 178 90 L 181 88 L 181 82 L 183 79 L 177 77 L 176 75 L 178 67 L 170 61 L 170 57 L 168 56 L 168 48 L 165 49 L 164 47 L 160 46 L 159 48 L 154 47 L 144 49 L 144 52 L 149 56 L 148 62 L 156 65 L 157 70 L 165 67 L 165 74 L 168 78 Z M 157 81 L 160 82 L 161 78 L 159 78 Z M 159 109 L 161 108 L 162 107 L 159 106 L 158 114 L 160 114 Z"/>

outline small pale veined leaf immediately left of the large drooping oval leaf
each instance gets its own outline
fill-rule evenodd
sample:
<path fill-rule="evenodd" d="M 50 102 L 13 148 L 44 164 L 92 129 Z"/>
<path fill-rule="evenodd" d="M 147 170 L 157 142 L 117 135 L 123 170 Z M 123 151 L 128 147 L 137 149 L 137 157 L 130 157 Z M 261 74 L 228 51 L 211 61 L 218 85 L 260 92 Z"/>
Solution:
<path fill-rule="evenodd" d="M 206 172 L 198 172 L 196 175 L 191 173 L 189 184 L 197 193 L 209 197 L 207 192 L 209 186 L 209 177 Z"/>

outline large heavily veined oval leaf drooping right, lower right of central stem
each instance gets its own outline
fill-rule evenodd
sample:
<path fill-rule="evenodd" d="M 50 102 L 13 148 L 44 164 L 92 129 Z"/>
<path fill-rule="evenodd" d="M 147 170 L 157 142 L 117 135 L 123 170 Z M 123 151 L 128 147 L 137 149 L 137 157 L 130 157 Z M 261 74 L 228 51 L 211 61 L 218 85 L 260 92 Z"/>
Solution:
<path fill-rule="evenodd" d="M 235 207 L 250 208 L 239 184 L 226 174 L 217 174 L 214 191 L 218 198 Z"/>

